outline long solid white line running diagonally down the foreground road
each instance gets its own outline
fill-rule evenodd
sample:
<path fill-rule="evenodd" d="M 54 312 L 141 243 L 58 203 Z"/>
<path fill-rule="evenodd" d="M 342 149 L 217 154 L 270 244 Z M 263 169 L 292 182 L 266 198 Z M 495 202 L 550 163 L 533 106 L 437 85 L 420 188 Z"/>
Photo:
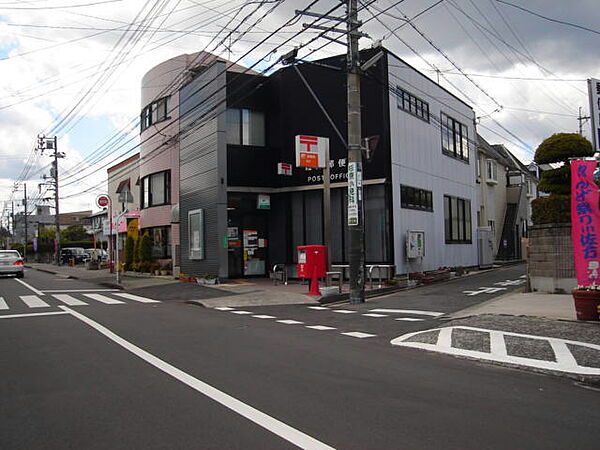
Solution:
<path fill-rule="evenodd" d="M 145 350 L 142 350 L 138 346 L 126 341 L 119 335 L 113 333 L 108 328 L 100 325 L 98 322 L 95 322 L 83 314 L 79 314 L 72 309 L 67 308 L 66 306 L 61 306 L 61 308 L 65 311 L 68 311 L 71 315 L 86 323 L 99 333 L 106 336 L 111 341 L 123 347 L 130 353 L 133 353 L 138 358 L 146 361 L 148 364 L 156 367 L 167 375 L 172 376 L 176 380 L 182 382 L 183 384 L 191 387 L 197 392 L 207 396 L 208 398 L 214 400 L 217 403 L 229 408 L 235 413 L 245 417 L 246 419 L 254 422 L 255 424 L 263 427 L 264 429 L 270 431 L 271 433 L 285 439 L 288 442 L 300 447 L 300 448 L 311 448 L 311 449 L 331 449 L 333 447 L 328 446 L 327 444 L 309 436 L 308 434 L 303 433 L 300 430 L 297 430 L 288 424 L 277 420 L 274 417 L 269 416 L 268 414 L 259 411 L 256 408 L 253 408 L 246 403 L 241 402 L 235 397 L 232 397 L 229 394 L 226 394 L 223 391 L 214 388 L 213 386 L 205 383 L 204 381 L 199 380 L 198 378 L 193 377 L 192 375 L 178 369 L 175 366 L 172 366 L 169 363 L 157 358 L 156 356 L 148 353 Z"/>

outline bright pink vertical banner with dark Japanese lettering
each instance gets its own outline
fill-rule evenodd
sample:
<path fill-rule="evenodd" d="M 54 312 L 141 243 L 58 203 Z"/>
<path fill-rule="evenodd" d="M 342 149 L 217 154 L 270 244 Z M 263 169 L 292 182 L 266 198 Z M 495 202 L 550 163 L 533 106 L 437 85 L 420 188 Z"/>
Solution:
<path fill-rule="evenodd" d="M 577 284 L 600 284 L 600 211 L 596 161 L 571 161 L 571 225 Z"/>

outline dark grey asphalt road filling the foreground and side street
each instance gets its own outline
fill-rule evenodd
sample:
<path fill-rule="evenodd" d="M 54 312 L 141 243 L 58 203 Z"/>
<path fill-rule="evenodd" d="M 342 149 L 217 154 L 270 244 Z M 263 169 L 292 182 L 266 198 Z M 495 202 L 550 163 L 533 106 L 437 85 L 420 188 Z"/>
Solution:
<path fill-rule="evenodd" d="M 507 268 L 340 308 L 351 313 L 297 305 L 234 314 L 172 295 L 141 303 L 31 270 L 30 287 L 0 279 L 0 447 L 597 448 L 598 392 L 394 348 L 390 336 L 439 319 L 363 315 L 461 309 L 506 292 L 464 291 L 522 273 Z"/>

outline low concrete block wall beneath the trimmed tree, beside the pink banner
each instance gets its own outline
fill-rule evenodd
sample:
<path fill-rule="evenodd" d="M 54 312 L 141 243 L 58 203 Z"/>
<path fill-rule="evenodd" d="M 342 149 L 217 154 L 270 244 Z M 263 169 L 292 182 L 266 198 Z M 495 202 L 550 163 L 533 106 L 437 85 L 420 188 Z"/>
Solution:
<path fill-rule="evenodd" d="M 528 275 L 532 291 L 568 293 L 576 285 L 571 224 L 529 229 Z"/>

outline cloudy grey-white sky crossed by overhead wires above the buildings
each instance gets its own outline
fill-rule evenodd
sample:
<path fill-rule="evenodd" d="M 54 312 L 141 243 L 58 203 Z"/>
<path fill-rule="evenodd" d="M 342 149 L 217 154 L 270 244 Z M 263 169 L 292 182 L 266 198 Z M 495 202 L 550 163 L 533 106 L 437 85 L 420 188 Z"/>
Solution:
<path fill-rule="evenodd" d="M 53 205 L 45 200 L 53 193 L 39 186 L 51 161 L 35 151 L 39 134 L 57 136 L 65 155 L 61 212 L 97 210 L 107 167 L 137 152 L 148 70 L 199 50 L 266 73 L 293 47 L 306 60 L 343 54 L 318 31 L 298 34 L 314 19 L 295 15 L 339 4 L 0 0 L 2 225 L 13 201 L 22 210 L 25 184 L 32 207 Z M 344 8 L 329 14 L 341 17 Z M 579 108 L 589 115 L 586 80 L 600 78 L 597 0 L 359 0 L 359 18 L 368 34 L 361 48 L 380 42 L 438 81 L 473 107 L 480 135 L 524 163 L 546 137 L 578 132 Z"/>

